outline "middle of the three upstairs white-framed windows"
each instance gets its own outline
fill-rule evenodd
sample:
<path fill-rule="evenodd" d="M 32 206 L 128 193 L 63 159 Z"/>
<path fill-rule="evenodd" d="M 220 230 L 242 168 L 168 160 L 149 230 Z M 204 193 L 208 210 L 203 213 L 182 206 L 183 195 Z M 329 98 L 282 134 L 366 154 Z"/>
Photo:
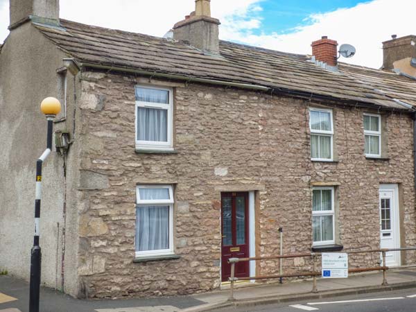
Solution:
<path fill-rule="evenodd" d="M 311 159 L 322 162 L 333 160 L 333 120 L 332 110 L 309 109 L 311 129 Z"/>

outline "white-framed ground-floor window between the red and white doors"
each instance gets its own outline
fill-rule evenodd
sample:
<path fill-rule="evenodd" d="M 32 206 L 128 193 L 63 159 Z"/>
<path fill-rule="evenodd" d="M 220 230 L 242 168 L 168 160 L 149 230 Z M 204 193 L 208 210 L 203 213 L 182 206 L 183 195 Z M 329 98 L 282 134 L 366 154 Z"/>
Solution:
<path fill-rule="evenodd" d="M 335 211 L 333 187 L 316 187 L 312 196 L 313 245 L 335 243 Z"/>

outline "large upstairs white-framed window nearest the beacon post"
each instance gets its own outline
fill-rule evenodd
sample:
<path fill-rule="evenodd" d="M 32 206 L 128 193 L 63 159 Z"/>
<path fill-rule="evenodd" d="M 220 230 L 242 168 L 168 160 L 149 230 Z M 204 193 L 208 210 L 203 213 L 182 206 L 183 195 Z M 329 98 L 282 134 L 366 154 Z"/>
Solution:
<path fill-rule="evenodd" d="M 136 149 L 173 150 L 173 90 L 136 85 Z"/>

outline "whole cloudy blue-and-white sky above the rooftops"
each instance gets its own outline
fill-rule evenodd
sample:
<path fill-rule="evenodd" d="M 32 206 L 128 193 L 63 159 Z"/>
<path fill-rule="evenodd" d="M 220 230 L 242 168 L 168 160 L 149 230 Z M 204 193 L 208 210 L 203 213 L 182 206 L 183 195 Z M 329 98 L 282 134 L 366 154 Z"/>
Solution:
<path fill-rule="evenodd" d="M 162 37 L 194 9 L 194 0 L 60 0 L 60 17 Z M 0 0 L 0 43 L 8 35 L 9 0 Z M 94 12 L 94 14 L 91 14 Z M 327 35 L 356 47 L 343 62 L 379 68 L 381 42 L 416 35 L 416 0 L 211 0 L 220 39 L 291 53 L 311 53 Z"/>

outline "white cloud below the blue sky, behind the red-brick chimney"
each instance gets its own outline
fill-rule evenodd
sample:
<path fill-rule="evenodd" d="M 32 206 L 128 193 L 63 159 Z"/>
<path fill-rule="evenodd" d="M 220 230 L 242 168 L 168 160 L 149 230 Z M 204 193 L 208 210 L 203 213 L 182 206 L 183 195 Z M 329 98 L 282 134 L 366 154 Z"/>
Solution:
<path fill-rule="evenodd" d="M 343 8 L 324 14 L 311 15 L 306 26 L 298 26 L 284 35 L 272 33 L 253 35 L 252 29 L 225 32 L 225 40 L 245 42 L 254 46 L 292 53 L 311 53 L 311 42 L 327 35 L 338 44 L 356 47 L 354 58 L 343 62 L 379 68 L 383 63 L 382 42 L 415 34 L 415 0 L 374 0 L 354 8 Z M 259 27 L 261 29 L 261 26 Z"/>

